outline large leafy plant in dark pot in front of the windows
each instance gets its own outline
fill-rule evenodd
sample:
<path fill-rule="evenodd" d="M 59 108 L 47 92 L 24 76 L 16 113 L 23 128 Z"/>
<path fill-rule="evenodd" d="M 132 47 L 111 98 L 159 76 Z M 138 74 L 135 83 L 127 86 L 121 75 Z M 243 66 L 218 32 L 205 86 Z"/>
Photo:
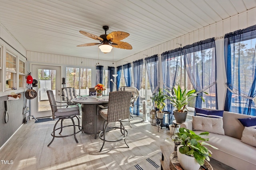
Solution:
<path fill-rule="evenodd" d="M 184 123 L 186 121 L 188 109 L 186 108 L 186 105 L 188 102 L 195 98 L 197 95 L 196 90 L 190 90 L 187 92 L 187 89 L 184 91 L 181 90 L 180 85 L 178 85 L 178 88 L 173 88 L 173 92 L 170 92 L 166 90 L 169 95 L 166 95 L 166 98 L 170 100 L 170 104 L 172 104 L 176 110 L 173 111 L 176 123 Z M 204 92 L 207 94 L 206 92 Z M 202 96 L 201 96 L 202 98 Z M 202 98 L 203 102 L 204 99 Z"/>

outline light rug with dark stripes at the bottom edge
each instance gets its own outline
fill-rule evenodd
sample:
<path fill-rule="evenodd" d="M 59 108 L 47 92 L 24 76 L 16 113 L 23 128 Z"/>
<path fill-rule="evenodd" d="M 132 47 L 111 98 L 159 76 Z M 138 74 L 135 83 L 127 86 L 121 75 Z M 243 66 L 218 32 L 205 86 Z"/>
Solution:
<path fill-rule="evenodd" d="M 142 160 L 140 163 L 132 166 L 128 170 L 160 170 L 161 163 L 160 159 L 162 158 L 162 152 L 158 152 L 153 156 L 146 158 L 146 160 Z"/>

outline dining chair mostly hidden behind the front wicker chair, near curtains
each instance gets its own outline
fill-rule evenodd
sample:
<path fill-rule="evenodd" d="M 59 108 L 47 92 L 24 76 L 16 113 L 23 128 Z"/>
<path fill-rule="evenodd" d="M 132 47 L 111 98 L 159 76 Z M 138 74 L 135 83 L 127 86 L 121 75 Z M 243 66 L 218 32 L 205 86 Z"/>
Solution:
<path fill-rule="evenodd" d="M 130 107 L 134 107 L 134 103 L 138 100 L 138 97 L 139 97 L 139 90 L 136 88 L 136 87 L 119 87 L 118 88 L 118 91 L 131 91 L 132 92 L 132 98 L 131 98 L 131 102 L 130 102 Z M 130 127 L 132 127 L 130 121 L 133 120 L 133 117 L 132 117 L 132 113 L 130 114 L 130 117 L 126 120 L 123 120 L 123 121 L 128 121 L 129 122 L 129 125 Z"/>

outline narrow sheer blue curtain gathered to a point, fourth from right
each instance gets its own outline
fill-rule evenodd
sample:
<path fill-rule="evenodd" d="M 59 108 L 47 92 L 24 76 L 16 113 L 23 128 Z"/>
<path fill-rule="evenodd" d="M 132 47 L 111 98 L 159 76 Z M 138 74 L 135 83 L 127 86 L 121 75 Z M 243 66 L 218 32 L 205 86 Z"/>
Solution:
<path fill-rule="evenodd" d="M 145 58 L 145 64 L 148 74 L 148 81 L 152 95 L 158 92 L 159 89 L 159 66 L 158 55 Z"/>

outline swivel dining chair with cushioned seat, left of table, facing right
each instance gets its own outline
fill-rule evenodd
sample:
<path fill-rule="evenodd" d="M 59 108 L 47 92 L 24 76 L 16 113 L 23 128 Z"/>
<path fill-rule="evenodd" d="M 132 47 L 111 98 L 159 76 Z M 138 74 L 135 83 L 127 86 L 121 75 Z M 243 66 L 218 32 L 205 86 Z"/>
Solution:
<path fill-rule="evenodd" d="M 66 108 L 58 109 L 57 107 L 70 106 L 70 105 L 57 106 L 56 103 L 66 103 L 66 102 L 56 102 L 52 90 L 47 90 L 46 92 L 47 92 L 47 95 L 48 95 L 48 98 L 49 98 L 49 101 L 50 101 L 50 106 L 51 106 L 51 109 L 52 109 L 52 119 L 58 119 L 58 121 L 55 123 L 53 131 L 51 133 L 53 138 L 52 138 L 52 141 L 48 144 L 48 147 L 52 144 L 55 137 L 69 137 L 69 136 L 74 135 L 76 143 L 78 143 L 78 140 L 76 139 L 76 134 L 79 133 L 80 131 L 82 131 L 82 126 L 80 126 L 80 121 L 79 121 L 79 118 L 78 118 L 78 115 L 80 113 L 79 107 L 74 104 L 75 105 L 74 107 L 66 107 Z M 73 119 L 74 117 L 77 118 L 78 125 L 75 124 L 74 119 Z M 63 126 L 63 120 L 64 119 L 71 119 L 73 125 Z M 56 129 L 56 126 L 57 126 L 57 124 L 60 120 L 61 120 L 60 127 Z M 60 129 L 60 132 L 59 132 L 59 134 L 60 134 L 60 133 L 62 133 L 62 129 L 64 127 L 70 127 L 70 126 L 74 127 L 74 133 L 69 134 L 69 135 L 56 135 L 56 131 L 58 129 Z M 79 128 L 79 131 L 76 131 L 76 127 Z"/>

